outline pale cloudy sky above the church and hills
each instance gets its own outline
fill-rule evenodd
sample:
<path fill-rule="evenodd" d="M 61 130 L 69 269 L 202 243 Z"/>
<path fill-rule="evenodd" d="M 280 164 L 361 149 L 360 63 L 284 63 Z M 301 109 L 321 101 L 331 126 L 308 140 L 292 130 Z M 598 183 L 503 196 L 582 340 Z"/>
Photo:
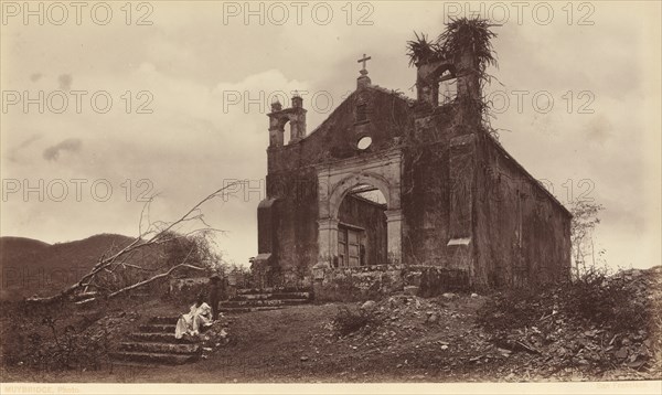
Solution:
<path fill-rule="evenodd" d="M 257 253 L 274 98 L 314 129 L 372 83 L 414 97 L 414 32 L 498 26 L 484 94 L 505 149 L 559 201 L 602 204 L 611 267 L 660 264 L 660 2 L 2 1 L 0 234 L 47 243 L 136 236 L 203 205 L 227 260 Z M 570 4 L 570 6 L 568 6 Z"/>

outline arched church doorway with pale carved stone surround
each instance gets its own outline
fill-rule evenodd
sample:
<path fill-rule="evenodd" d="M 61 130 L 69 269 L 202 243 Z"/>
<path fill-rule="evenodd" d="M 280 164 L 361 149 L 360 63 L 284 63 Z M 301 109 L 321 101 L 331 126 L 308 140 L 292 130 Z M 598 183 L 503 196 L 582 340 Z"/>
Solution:
<path fill-rule="evenodd" d="M 318 168 L 318 263 L 361 266 L 362 242 L 364 265 L 402 263 L 401 158 L 382 153 Z M 369 228 L 370 213 L 378 215 L 376 229 Z"/>

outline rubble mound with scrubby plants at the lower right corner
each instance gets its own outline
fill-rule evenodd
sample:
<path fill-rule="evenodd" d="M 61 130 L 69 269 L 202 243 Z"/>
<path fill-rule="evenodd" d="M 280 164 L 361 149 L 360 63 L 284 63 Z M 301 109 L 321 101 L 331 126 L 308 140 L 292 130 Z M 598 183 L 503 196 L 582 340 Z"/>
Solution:
<path fill-rule="evenodd" d="M 535 312 L 525 318 L 526 322 L 512 321 L 494 328 L 491 319 L 499 322 L 504 318 L 499 313 L 506 318 L 511 313 L 499 309 L 483 312 L 479 320 L 503 356 L 520 353 L 524 360 L 521 362 L 546 376 L 569 370 L 591 375 L 617 370 L 621 378 L 659 377 L 662 268 L 627 270 L 601 278 L 592 297 L 572 287 L 578 286 L 562 286 L 521 300 L 527 305 L 523 307 L 526 312 Z M 595 300 L 586 301 L 591 298 Z M 591 307 L 591 311 L 585 310 Z"/>

